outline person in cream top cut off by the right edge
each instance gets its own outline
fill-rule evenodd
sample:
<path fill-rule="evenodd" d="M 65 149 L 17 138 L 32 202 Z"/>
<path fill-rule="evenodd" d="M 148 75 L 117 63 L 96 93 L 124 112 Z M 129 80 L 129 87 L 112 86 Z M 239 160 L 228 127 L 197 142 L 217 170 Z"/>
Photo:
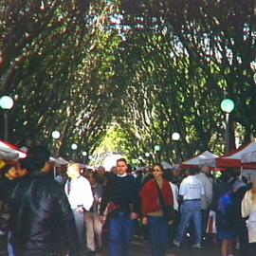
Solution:
<path fill-rule="evenodd" d="M 256 177 L 253 178 L 252 188 L 247 191 L 241 204 L 242 216 L 248 217 L 247 231 L 251 255 L 256 252 Z"/>

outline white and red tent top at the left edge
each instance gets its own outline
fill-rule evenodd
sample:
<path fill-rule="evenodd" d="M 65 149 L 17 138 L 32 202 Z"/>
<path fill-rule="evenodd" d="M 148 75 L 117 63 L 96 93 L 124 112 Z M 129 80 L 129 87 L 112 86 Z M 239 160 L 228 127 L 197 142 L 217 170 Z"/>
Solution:
<path fill-rule="evenodd" d="M 7 141 L 0 139 L 0 159 L 16 161 L 25 158 L 26 153 Z"/>

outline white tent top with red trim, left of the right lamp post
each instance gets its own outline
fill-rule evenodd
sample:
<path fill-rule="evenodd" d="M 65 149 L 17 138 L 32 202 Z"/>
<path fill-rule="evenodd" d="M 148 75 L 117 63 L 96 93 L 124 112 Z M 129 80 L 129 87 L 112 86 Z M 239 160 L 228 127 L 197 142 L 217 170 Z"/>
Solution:
<path fill-rule="evenodd" d="M 192 157 L 189 160 L 182 162 L 181 168 L 186 169 L 186 168 L 192 168 L 192 167 L 199 167 L 204 165 L 204 163 L 206 163 L 207 161 L 212 161 L 218 157 L 219 157 L 218 155 L 214 155 L 213 153 L 207 150 L 199 155 Z"/>

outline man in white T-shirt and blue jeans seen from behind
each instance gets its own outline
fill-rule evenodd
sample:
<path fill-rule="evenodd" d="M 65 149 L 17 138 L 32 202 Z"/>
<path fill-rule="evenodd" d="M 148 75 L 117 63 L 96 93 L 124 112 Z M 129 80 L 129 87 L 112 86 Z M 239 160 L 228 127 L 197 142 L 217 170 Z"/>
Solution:
<path fill-rule="evenodd" d="M 181 207 L 181 220 L 174 240 L 174 246 L 176 247 L 180 247 L 184 233 L 192 219 L 195 229 L 195 243 L 192 247 L 201 248 L 201 196 L 204 194 L 204 187 L 195 176 L 196 173 L 196 169 L 190 169 L 189 176 L 182 180 L 179 187 L 179 195 L 183 204 Z"/>

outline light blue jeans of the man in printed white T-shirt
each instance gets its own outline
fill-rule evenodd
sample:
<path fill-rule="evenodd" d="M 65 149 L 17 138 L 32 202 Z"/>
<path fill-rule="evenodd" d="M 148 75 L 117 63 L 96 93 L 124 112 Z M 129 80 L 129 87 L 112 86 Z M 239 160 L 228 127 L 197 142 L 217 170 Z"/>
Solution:
<path fill-rule="evenodd" d="M 202 238 L 202 212 L 200 200 L 185 200 L 181 208 L 181 220 L 177 230 L 176 241 L 181 243 L 184 233 L 192 219 L 195 229 L 195 244 L 201 244 Z"/>

